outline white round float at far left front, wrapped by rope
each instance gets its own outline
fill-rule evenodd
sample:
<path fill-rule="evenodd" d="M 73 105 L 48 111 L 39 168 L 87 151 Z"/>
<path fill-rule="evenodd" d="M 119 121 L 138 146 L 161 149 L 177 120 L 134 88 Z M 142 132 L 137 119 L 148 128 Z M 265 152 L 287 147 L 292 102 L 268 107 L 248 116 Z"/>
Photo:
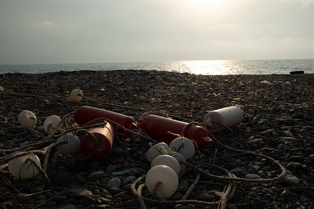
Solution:
<path fill-rule="evenodd" d="M 22 153 L 26 153 L 26 152 L 16 153 L 15 155 L 20 155 Z M 13 155 L 13 157 L 15 155 Z M 29 179 L 37 175 L 38 169 L 36 169 L 33 163 L 30 161 L 25 162 L 25 160 L 27 160 L 27 158 L 29 157 L 31 157 L 35 162 L 38 163 L 38 165 L 40 165 L 39 158 L 37 157 L 37 155 L 34 155 L 34 154 L 17 157 L 8 162 L 8 170 L 15 178 Z"/>

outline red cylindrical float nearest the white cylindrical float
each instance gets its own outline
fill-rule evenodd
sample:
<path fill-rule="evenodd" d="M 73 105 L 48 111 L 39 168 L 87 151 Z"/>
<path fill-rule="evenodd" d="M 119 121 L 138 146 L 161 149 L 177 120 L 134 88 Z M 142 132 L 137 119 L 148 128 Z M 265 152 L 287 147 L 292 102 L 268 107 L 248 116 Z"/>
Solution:
<path fill-rule="evenodd" d="M 173 139 L 177 138 L 174 134 L 181 134 L 186 125 L 188 125 L 188 123 L 152 114 L 145 116 L 142 121 L 140 121 L 140 127 L 147 132 L 151 138 L 157 141 L 163 141 L 167 144 L 170 144 Z M 195 149 L 200 151 L 204 150 L 207 145 L 213 143 L 208 137 L 207 130 L 199 125 L 188 127 L 184 132 L 184 137 L 195 141 L 197 144 Z"/>

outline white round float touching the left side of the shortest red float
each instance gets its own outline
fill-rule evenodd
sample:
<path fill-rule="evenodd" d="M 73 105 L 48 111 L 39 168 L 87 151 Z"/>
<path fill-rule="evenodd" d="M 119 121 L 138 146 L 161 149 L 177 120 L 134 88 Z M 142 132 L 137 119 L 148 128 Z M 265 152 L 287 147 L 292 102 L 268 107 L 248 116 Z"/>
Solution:
<path fill-rule="evenodd" d="M 66 144 L 61 144 L 61 145 L 57 146 L 57 150 L 62 155 L 73 155 L 81 147 L 80 139 L 73 134 L 65 134 L 65 135 L 59 137 L 56 144 L 59 144 L 62 141 L 68 142 Z"/>

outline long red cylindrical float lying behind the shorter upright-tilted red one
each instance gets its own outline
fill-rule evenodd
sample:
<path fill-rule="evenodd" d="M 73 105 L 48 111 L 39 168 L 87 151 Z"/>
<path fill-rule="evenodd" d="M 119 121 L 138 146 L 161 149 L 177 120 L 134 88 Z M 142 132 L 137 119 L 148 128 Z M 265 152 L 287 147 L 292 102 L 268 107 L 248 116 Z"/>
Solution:
<path fill-rule="evenodd" d="M 110 121 L 118 123 L 119 125 L 122 125 L 128 130 L 138 129 L 132 117 L 96 107 L 89 106 L 79 107 L 75 111 L 74 117 L 78 125 L 85 125 L 86 123 L 94 121 L 97 118 L 106 118 L 109 119 Z M 117 133 L 118 137 L 125 139 L 130 136 L 130 132 L 127 132 L 118 125 L 112 124 L 112 126 L 114 127 L 114 130 Z"/>

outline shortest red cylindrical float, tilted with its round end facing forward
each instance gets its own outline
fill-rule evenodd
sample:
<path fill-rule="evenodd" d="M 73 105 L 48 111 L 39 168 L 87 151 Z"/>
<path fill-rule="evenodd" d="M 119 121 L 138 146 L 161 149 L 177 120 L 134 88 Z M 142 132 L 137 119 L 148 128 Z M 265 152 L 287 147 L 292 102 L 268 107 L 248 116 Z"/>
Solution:
<path fill-rule="evenodd" d="M 91 160 L 101 161 L 108 157 L 114 140 L 114 129 L 110 123 L 104 127 L 95 127 L 89 130 L 97 139 L 98 147 L 96 147 L 93 138 L 86 134 L 82 140 L 81 150 L 84 156 L 91 155 Z"/>

